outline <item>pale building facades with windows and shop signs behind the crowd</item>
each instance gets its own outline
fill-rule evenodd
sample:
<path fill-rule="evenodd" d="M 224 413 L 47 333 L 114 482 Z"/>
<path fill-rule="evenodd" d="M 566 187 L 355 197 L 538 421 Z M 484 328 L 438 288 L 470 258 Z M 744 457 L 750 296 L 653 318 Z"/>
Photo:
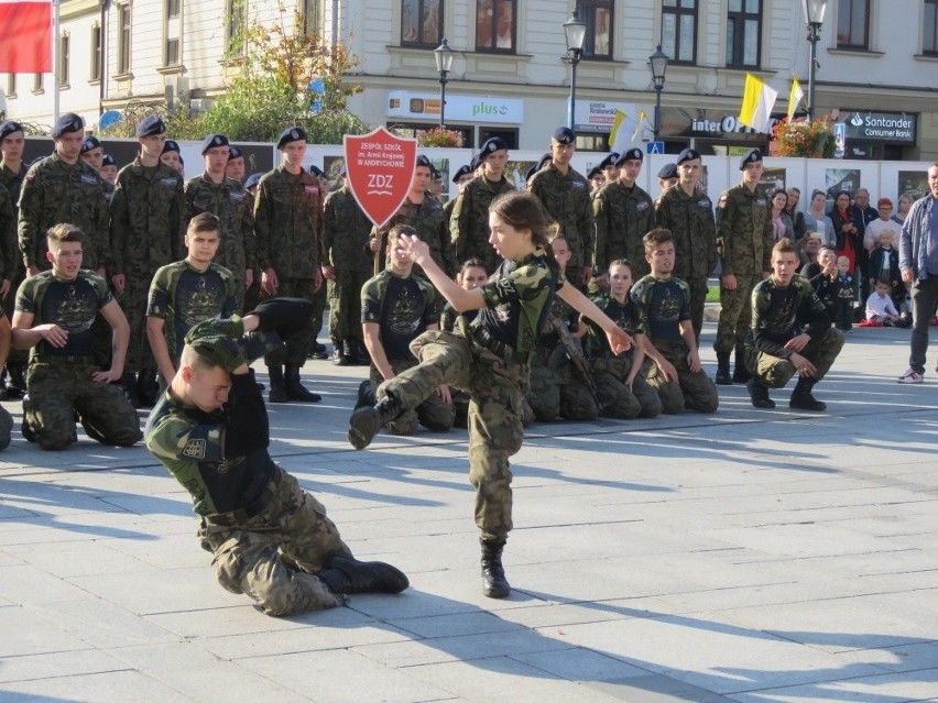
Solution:
<path fill-rule="evenodd" d="M 298 2 L 298 7 L 296 4 Z M 345 43 L 359 58 L 349 109 L 402 132 L 440 121 L 433 50 L 455 52 L 445 121 L 466 146 L 499 135 L 541 150 L 568 119 L 571 66 L 563 24 L 572 0 L 62 0 L 61 110 L 89 127 L 131 100 L 185 100 L 207 109 L 223 90 L 243 22 L 290 22 Z M 635 143 L 654 136 L 648 57 L 669 57 L 658 140 L 667 152 L 765 146 L 739 123 L 746 73 L 778 90 L 808 88 L 809 44 L 800 0 L 577 0 L 586 22 L 577 65 L 575 129 L 585 150 L 608 149 L 624 120 Z M 893 28 L 907 28 L 896 31 Z M 938 0 L 830 0 L 817 45 L 815 114 L 835 113 L 847 156 L 938 157 Z M 52 122 L 56 77 L 2 76 L 11 117 Z M 112 118 L 113 116 L 111 116 Z M 644 119 L 643 119 L 644 118 Z"/>

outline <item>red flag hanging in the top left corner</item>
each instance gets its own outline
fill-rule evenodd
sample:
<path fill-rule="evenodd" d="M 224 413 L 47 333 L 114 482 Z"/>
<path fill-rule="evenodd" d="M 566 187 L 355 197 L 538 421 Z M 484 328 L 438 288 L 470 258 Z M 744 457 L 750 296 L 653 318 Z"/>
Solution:
<path fill-rule="evenodd" d="M 52 2 L 0 0 L 0 73 L 52 73 Z"/>

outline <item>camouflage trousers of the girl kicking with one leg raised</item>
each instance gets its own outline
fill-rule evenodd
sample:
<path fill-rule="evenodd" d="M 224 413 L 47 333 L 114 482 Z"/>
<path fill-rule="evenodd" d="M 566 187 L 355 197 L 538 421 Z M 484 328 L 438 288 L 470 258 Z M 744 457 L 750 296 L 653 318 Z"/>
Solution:
<path fill-rule="evenodd" d="M 522 403 L 528 365 L 509 362 L 470 341 L 465 332 L 424 332 L 411 351 L 419 360 L 378 389 L 403 407 L 413 408 L 440 384 L 465 391 L 469 402 L 469 480 L 476 488 L 476 525 L 483 539 L 503 540 L 512 528 L 512 491 L 509 457 L 524 438 Z"/>

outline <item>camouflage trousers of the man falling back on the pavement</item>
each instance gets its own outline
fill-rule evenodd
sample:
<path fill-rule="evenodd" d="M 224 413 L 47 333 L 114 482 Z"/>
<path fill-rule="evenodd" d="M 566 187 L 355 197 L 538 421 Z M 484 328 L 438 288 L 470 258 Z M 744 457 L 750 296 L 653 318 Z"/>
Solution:
<path fill-rule="evenodd" d="M 323 504 L 280 466 L 258 503 L 251 517 L 238 510 L 201 518 L 199 540 L 215 554 L 218 582 L 268 615 L 341 605 L 345 598 L 315 575 L 329 552 L 351 556 Z"/>

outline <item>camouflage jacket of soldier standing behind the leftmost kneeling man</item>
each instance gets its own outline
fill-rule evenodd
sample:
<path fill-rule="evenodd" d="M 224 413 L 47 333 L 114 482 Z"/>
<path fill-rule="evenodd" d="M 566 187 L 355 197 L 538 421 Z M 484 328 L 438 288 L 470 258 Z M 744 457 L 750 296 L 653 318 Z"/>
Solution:
<path fill-rule="evenodd" d="M 101 177 L 78 160 L 66 164 L 58 154 L 30 166 L 20 191 L 20 252 L 26 267 L 48 268 L 45 233 L 68 222 L 85 232 L 83 268 L 110 265 L 108 204 Z"/>

